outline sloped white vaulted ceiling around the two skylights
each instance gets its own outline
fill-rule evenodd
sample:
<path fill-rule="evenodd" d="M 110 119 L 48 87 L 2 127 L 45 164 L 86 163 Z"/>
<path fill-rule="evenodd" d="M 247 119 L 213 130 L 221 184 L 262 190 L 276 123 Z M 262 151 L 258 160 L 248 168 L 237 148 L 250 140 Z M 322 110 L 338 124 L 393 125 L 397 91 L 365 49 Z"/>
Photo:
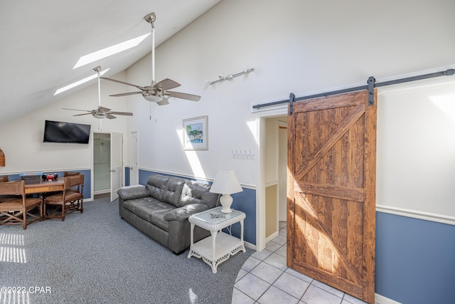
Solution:
<path fill-rule="evenodd" d="M 151 51 L 151 36 L 136 48 L 73 69 L 80 56 L 150 33 L 156 46 L 220 0 L 4 0 L 0 9 L 0 124 L 52 103 L 55 90 L 94 73 L 125 70 Z"/>

